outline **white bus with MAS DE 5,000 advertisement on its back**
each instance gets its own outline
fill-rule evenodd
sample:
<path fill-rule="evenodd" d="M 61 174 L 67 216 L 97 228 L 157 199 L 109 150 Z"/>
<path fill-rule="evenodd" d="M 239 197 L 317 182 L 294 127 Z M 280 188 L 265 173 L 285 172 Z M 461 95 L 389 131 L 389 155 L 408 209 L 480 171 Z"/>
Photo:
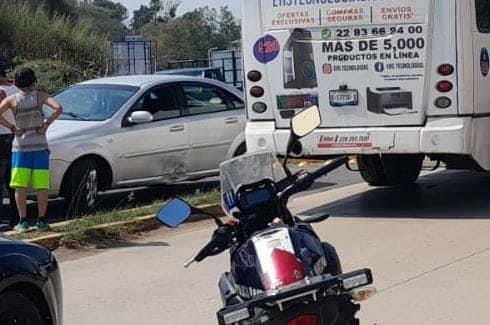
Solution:
<path fill-rule="evenodd" d="M 243 1 L 248 151 L 356 155 L 369 184 L 417 180 L 425 158 L 490 170 L 490 1 Z"/>

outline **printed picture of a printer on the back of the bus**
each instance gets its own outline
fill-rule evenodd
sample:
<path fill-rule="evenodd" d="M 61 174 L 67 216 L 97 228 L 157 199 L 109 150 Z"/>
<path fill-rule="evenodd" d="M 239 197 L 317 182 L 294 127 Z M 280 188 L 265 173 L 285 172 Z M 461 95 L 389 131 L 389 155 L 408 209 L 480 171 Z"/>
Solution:
<path fill-rule="evenodd" d="M 400 87 L 367 88 L 368 111 L 375 114 L 402 115 L 413 110 L 412 92 Z"/>

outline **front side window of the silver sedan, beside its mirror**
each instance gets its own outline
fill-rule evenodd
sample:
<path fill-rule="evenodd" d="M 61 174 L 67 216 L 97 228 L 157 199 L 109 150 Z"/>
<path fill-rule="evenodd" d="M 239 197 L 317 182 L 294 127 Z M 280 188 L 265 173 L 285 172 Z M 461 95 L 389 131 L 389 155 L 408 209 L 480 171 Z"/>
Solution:
<path fill-rule="evenodd" d="M 157 87 L 148 91 L 138 100 L 132 111 L 146 111 L 154 121 L 181 116 L 177 90 L 174 86 Z"/>

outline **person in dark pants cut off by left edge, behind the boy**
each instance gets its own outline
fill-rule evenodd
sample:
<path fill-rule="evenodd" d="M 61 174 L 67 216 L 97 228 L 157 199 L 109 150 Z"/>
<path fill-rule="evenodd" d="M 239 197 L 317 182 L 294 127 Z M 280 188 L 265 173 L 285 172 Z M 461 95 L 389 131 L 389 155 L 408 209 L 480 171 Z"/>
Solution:
<path fill-rule="evenodd" d="M 0 66 L 0 103 L 10 95 L 19 92 L 19 89 L 14 86 L 12 80 L 7 78 L 5 69 Z M 11 124 L 15 123 L 12 111 L 7 111 L 3 117 Z M 15 204 L 15 190 L 10 187 L 10 172 L 12 169 L 12 141 L 14 134 L 12 130 L 0 125 L 0 217 L 10 219 L 10 225 L 14 226 L 17 223 L 17 206 Z M 6 187 L 9 193 L 10 206 L 8 209 L 3 205 L 3 187 Z"/>

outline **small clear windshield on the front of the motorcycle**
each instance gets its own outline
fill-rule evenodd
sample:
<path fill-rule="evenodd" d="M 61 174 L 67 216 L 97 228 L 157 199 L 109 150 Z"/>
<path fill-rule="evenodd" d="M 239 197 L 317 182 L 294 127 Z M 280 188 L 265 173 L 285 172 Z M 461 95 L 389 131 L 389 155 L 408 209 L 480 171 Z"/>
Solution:
<path fill-rule="evenodd" d="M 273 152 L 246 154 L 225 161 L 220 165 L 221 198 L 226 200 L 230 193 L 236 194 L 240 186 L 259 182 L 263 179 L 280 181 L 286 172 Z M 228 211 L 229 204 L 222 202 Z"/>

